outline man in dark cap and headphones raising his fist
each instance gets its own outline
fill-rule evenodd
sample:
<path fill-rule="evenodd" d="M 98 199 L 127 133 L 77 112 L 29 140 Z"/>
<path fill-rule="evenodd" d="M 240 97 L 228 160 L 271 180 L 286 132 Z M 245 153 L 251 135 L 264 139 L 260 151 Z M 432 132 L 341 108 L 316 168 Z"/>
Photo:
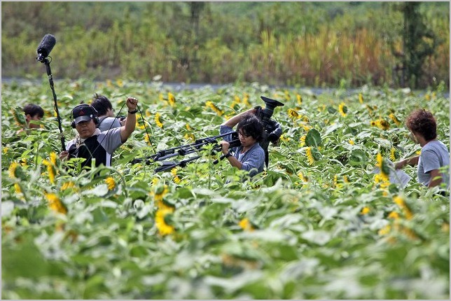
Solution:
<path fill-rule="evenodd" d="M 73 118 L 72 127 L 78 134 L 75 139 L 67 143 L 67 151 L 60 153 L 61 160 L 68 158 L 85 158 L 82 167 L 90 167 L 92 158 L 95 158 L 95 166 L 103 164 L 111 166 L 111 154 L 127 141 L 136 126 L 138 100 L 127 98 L 128 115 L 125 125 L 112 130 L 101 132 L 96 128 L 99 123 L 97 111 L 88 104 L 80 104 L 71 112 Z"/>

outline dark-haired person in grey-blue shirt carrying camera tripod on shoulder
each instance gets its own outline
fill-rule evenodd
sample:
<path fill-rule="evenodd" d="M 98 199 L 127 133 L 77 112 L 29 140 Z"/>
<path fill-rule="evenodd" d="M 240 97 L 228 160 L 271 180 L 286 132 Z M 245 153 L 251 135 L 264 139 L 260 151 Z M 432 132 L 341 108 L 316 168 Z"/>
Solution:
<path fill-rule="evenodd" d="M 233 118 L 221 124 L 220 133 L 227 134 L 233 132 L 233 127 L 237 125 L 238 139 L 241 146 L 233 148 L 234 153 L 230 153 L 229 142 L 232 135 L 226 136 L 223 141 L 219 141 L 222 146 L 222 152 L 230 165 L 237 169 L 247 170 L 249 176 L 255 176 L 263 172 L 265 165 L 265 151 L 258 142 L 264 137 L 263 123 L 254 114 L 256 109 L 250 109 L 242 112 Z"/>

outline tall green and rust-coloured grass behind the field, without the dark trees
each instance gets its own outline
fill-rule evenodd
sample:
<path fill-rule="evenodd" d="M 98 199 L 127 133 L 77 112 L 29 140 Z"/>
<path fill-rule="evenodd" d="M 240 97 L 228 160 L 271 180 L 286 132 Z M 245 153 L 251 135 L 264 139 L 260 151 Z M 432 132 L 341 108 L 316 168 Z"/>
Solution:
<path fill-rule="evenodd" d="M 88 24 L 70 21 L 76 15 L 73 9 L 83 7 L 76 4 L 51 9 L 42 3 L 36 6 L 5 3 L 2 6 L 6 6 L 10 19 L 34 20 L 28 17 L 32 14 L 50 18 L 48 13 L 43 13 L 49 9 L 55 15 L 71 15 L 67 21 L 71 25 L 50 22 L 42 32 L 50 32 L 57 38 L 50 55 L 54 74 L 60 78 L 122 76 L 149 80 L 161 76 L 164 81 L 186 83 L 245 80 L 338 86 L 345 80 L 354 87 L 365 83 L 396 84 L 392 72 L 396 57 L 391 49 L 402 49 L 398 33 L 402 22 L 399 14 L 377 10 L 384 13 L 381 20 L 375 20 L 369 15 L 366 19 L 355 18 L 352 13 L 343 12 L 334 18 L 321 20 L 324 18 L 321 10 L 303 10 L 303 6 L 293 6 L 301 14 L 312 13 L 310 18 L 306 18 L 312 23 L 309 25 L 304 24 L 306 21 L 302 18 L 290 22 L 284 20 L 282 16 L 287 13 L 287 5 L 290 4 L 266 6 L 268 11 L 260 12 L 258 22 L 251 17 L 237 17 L 230 22 L 230 19 L 206 9 L 200 19 L 200 34 L 195 38 L 189 18 L 183 11 L 186 7 L 180 3 L 151 3 L 143 6 L 145 9 L 139 11 L 140 15 L 136 9 L 127 8 L 123 10 L 122 18 L 109 21 L 102 21 L 103 6 L 96 4 L 91 9 L 93 11 L 88 10 L 91 17 L 80 18 Z M 20 14 L 18 10 L 22 6 L 26 9 Z M 267 20 L 263 17 L 268 12 L 275 15 Z M 99 14 L 99 24 L 89 19 L 94 18 L 94 13 Z M 435 86 L 440 81 L 449 83 L 449 13 L 432 15 L 426 10 L 424 14 L 427 24 L 440 38 L 440 45 L 424 64 L 422 86 Z M 116 12 L 116 15 L 120 13 Z M 17 33 L 10 19 L 5 21 L 8 26 L 2 27 L 2 76 L 39 76 L 42 69 L 33 63 L 39 42 L 36 36 L 41 36 L 39 29 L 33 31 L 26 27 L 27 30 Z M 396 29 L 381 25 L 386 21 Z M 12 24 L 25 28 L 20 22 Z"/>

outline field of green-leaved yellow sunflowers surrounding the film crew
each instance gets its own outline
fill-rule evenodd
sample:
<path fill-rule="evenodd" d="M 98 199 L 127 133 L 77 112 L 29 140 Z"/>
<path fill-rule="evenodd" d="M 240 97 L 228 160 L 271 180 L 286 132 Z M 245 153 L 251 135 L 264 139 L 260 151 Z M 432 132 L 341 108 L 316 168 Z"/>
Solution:
<path fill-rule="evenodd" d="M 420 150 L 404 125 L 414 109 L 434 114 L 449 148 L 444 84 L 315 92 L 58 80 L 55 92 L 66 142 L 71 109 L 95 92 L 120 115 L 137 97 L 137 128 L 112 167 L 74 176 L 58 156 L 48 81 L 2 83 L 3 299 L 449 299 L 449 197 L 420 186 L 415 167 L 405 187 L 387 177 L 389 161 Z M 264 108 L 261 96 L 284 103 L 263 173 L 242 181 L 226 160 L 213 164 L 215 144 L 155 172 L 149 156 L 218 135 L 227 118 Z M 21 131 L 28 103 L 46 114 Z"/>

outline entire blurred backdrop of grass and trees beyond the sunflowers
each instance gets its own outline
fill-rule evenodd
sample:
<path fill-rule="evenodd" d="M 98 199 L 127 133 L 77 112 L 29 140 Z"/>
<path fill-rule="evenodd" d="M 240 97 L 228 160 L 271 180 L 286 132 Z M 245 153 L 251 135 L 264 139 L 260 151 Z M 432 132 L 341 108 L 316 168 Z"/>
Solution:
<path fill-rule="evenodd" d="M 449 2 L 2 2 L 2 78 L 436 87 Z"/>

